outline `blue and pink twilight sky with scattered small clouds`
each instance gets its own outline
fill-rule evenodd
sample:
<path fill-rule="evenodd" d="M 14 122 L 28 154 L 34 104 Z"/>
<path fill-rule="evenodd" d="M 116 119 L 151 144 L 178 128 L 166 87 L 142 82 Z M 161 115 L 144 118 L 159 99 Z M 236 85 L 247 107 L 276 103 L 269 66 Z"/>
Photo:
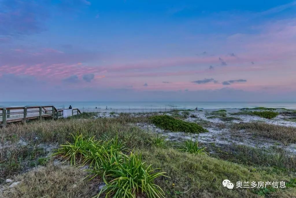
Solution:
<path fill-rule="evenodd" d="M 0 0 L 0 101 L 295 101 L 296 1 Z"/>

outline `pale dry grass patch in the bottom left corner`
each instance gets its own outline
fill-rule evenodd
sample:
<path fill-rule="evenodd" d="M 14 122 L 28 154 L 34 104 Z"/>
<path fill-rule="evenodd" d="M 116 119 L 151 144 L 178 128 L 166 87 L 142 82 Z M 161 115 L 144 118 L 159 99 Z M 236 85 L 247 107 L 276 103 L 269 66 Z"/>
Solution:
<path fill-rule="evenodd" d="M 15 181 L 21 183 L 9 189 L 11 193 L 5 197 L 91 197 L 94 189 L 88 180 L 84 180 L 86 172 L 75 167 L 56 167 L 54 165 L 18 175 Z"/>

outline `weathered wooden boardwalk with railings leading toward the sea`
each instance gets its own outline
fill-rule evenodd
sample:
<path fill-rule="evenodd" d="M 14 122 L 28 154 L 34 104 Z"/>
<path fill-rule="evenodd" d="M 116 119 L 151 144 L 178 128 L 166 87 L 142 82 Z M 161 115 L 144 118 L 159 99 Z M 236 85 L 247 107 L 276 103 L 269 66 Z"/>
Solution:
<path fill-rule="evenodd" d="M 65 109 L 56 109 L 54 106 L 22 106 L 22 107 L 0 107 L 0 126 L 5 127 L 7 123 L 26 122 L 27 120 L 42 120 L 63 118 Z M 72 109 L 72 115 L 81 114 L 78 108 Z"/>

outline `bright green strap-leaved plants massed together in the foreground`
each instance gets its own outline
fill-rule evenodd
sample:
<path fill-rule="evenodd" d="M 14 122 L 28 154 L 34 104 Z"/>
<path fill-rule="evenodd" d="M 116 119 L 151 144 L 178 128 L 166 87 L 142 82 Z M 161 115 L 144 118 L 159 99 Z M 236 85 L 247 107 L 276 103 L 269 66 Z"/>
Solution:
<path fill-rule="evenodd" d="M 89 178 L 102 177 L 104 186 L 97 197 L 164 197 L 163 190 L 153 183 L 155 178 L 165 176 L 165 172 L 155 172 L 151 165 L 142 162 L 141 156 L 124 154 L 123 144 L 118 137 L 110 141 L 84 138 L 73 135 L 73 143 L 61 145 L 55 155 L 62 156 L 81 166 L 89 165 Z M 77 161 L 78 160 L 78 161 Z"/>

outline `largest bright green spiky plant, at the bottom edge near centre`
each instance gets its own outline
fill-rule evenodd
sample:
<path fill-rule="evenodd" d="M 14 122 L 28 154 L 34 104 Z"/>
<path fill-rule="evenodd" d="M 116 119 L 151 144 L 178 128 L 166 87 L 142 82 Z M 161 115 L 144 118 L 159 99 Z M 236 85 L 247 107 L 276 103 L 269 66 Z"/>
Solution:
<path fill-rule="evenodd" d="M 106 197 L 139 197 L 145 194 L 147 197 L 164 197 L 160 186 L 153 183 L 155 178 L 165 176 L 165 172 L 155 172 L 151 165 L 142 162 L 141 156 L 132 152 L 126 156 L 124 163 L 117 164 L 114 170 L 107 170 L 103 175 L 106 186 L 102 188 L 98 197 L 105 194 Z M 107 177 L 112 177 L 107 181 Z"/>

